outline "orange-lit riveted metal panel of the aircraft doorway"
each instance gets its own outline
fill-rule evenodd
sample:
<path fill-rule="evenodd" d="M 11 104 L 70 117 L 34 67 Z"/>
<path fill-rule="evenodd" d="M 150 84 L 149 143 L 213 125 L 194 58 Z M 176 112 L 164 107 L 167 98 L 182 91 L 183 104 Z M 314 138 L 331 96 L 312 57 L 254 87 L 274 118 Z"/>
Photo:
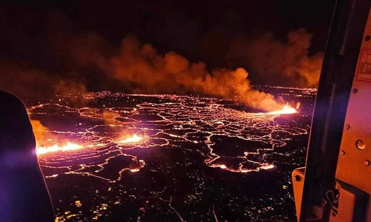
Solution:
<path fill-rule="evenodd" d="M 371 10 L 358 57 L 342 134 L 336 180 L 371 194 Z M 346 61 L 345 61 L 346 62 Z M 339 184 L 338 184 L 339 185 Z M 338 186 L 337 185 L 337 186 Z M 343 197 L 342 197 L 343 196 Z M 339 203 L 347 200 L 340 195 Z M 349 202 L 348 200 L 347 202 Z M 341 204 L 342 205 L 342 204 Z M 340 207 L 340 205 L 339 205 Z M 344 208 L 344 207 L 343 207 Z M 339 209 L 339 213 L 341 213 Z M 351 209 L 349 209 L 351 211 Z M 370 204 L 365 221 L 371 221 Z M 342 211 L 344 212 L 344 211 Z M 340 216 L 340 215 L 339 215 Z M 341 218 L 341 216 L 340 216 Z M 343 221 L 348 221 L 342 218 Z M 331 220 L 332 221 L 332 220 Z M 351 220 L 351 221 L 354 221 Z"/>

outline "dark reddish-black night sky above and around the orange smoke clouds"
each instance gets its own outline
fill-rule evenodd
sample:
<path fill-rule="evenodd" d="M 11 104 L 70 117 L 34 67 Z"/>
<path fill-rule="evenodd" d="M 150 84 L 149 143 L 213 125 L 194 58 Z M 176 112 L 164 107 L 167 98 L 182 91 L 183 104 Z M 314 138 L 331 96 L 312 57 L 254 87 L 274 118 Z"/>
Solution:
<path fill-rule="evenodd" d="M 45 2 L 1 3 L 0 74 L 36 70 L 52 78 L 78 76 L 88 90 L 104 90 L 114 81 L 102 81 L 97 77 L 102 71 L 95 65 L 82 66 L 66 55 L 73 51 L 72 39 L 81 36 L 89 37 L 80 38 L 78 44 L 97 49 L 104 57 L 115 54 L 122 39 L 130 35 L 142 44 L 151 44 L 159 54 L 174 51 L 190 62 L 203 61 L 208 70 L 243 67 L 252 84 L 302 86 L 300 81 L 288 83 L 287 76 L 254 74 L 245 59 L 234 59 L 234 51 L 240 47 L 231 45 L 266 32 L 285 43 L 290 31 L 305 28 L 313 35 L 309 56 L 323 52 L 334 8 L 334 1 L 321 0 Z"/>

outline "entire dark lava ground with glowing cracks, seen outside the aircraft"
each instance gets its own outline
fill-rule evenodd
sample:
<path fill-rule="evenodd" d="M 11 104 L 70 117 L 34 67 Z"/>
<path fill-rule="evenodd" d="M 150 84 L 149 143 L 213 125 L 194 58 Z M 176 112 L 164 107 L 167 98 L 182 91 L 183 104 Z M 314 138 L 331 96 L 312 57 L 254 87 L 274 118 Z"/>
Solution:
<path fill-rule="evenodd" d="M 58 138 L 40 144 L 78 145 L 39 152 L 57 221 L 291 221 L 289 176 L 305 158 L 315 90 L 270 90 L 301 101 L 301 112 L 113 92 L 84 95 L 95 100 L 85 108 L 63 98 L 30 107 Z"/>

